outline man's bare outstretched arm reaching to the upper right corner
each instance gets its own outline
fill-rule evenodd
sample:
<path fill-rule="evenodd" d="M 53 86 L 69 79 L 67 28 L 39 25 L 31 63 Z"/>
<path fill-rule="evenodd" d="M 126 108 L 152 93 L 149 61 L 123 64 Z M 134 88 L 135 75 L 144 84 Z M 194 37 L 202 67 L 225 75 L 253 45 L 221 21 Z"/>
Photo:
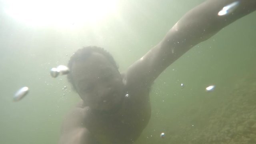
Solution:
<path fill-rule="evenodd" d="M 224 6 L 236 2 L 230 14 L 219 16 Z M 256 0 L 206 0 L 187 12 L 164 39 L 132 64 L 127 71 L 131 84 L 152 82 L 170 64 L 196 44 L 212 37 L 235 20 L 256 10 Z"/>

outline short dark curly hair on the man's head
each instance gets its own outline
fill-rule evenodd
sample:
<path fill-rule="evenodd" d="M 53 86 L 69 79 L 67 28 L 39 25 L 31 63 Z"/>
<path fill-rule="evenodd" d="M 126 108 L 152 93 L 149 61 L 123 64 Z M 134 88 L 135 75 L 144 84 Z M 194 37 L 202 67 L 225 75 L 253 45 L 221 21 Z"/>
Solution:
<path fill-rule="evenodd" d="M 100 48 L 97 46 L 86 46 L 86 47 L 80 48 L 70 57 L 70 60 L 68 61 L 68 68 L 70 69 L 70 73 L 67 75 L 67 78 L 68 78 L 68 82 L 72 84 L 72 87 L 74 89 L 76 89 L 76 87 L 74 85 L 74 80 L 71 74 L 72 73 L 71 68 L 73 63 L 77 61 L 86 61 L 86 59 L 90 57 L 90 55 L 93 52 L 98 52 L 99 54 L 102 54 L 103 56 L 105 56 L 109 60 L 109 62 L 118 69 L 118 66 L 113 56 L 103 48 Z"/>

